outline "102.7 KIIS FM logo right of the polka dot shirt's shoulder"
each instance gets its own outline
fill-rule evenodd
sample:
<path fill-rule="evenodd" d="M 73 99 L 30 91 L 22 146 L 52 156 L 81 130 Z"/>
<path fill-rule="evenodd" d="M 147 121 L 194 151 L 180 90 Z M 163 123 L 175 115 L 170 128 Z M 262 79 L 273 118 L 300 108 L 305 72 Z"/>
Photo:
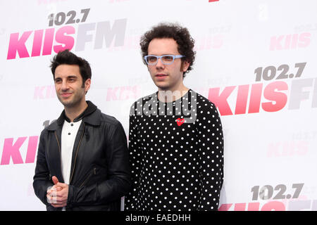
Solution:
<path fill-rule="evenodd" d="M 285 64 L 278 67 L 271 65 L 264 69 L 256 68 L 254 71 L 256 82 L 260 82 L 262 79 L 265 81 L 274 78 L 279 80 L 268 84 L 226 86 L 221 92 L 220 87 L 211 88 L 209 89 L 209 100 L 218 107 L 220 115 L 259 113 L 260 108 L 266 112 L 277 112 L 285 108 L 287 101 L 289 110 L 299 109 L 301 104 L 307 100 L 311 101 L 311 108 L 317 108 L 317 78 L 297 79 L 301 77 L 305 65 L 306 63 L 296 63 L 294 67 Z M 288 73 L 290 68 L 297 69 L 292 69 L 290 71 L 293 73 Z M 292 79 L 292 84 L 289 86 L 282 79 Z M 237 89 L 237 94 L 233 113 L 229 104 L 232 101 L 229 101 L 229 98 L 235 89 Z M 285 91 L 289 91 L 289 94 Z M 263 97 L 267 101 L 263 102 Z"/>

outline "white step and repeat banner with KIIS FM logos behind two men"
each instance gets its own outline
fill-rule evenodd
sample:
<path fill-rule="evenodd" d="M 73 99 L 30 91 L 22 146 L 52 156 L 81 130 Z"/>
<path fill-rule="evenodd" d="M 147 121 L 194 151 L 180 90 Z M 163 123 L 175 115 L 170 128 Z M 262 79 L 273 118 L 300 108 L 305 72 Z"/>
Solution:
<path fill-rule="evenodd" d="M 88 60 L 87 99 L 128 136 L 130 105 L 156 91 L 139 38 L 187 27 L 185 85 L 216 104 L 225 137 L 219 210 L 317 210 L 317 1 L 0 1 L 0 210 L 45 210 L 32 188 L 39 134 L 60 115 L 51 58 Z"/>

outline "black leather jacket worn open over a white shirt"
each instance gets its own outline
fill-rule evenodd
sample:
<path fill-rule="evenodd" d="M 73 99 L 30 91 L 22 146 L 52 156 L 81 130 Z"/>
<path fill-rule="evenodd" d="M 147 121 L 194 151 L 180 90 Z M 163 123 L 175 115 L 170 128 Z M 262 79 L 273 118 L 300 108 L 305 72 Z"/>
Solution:
<path fill-rule="evenodd" d="M 87 101 L 73 148 L 66 210 L 120 210 L 120 200 L 130 191 L 131 175 L 128 145 L 122 125 L 101 113 Z M 88 112 L 88 113 L 87 113 Z M 77 117 L 78 118 L 78 117 Z M 47 210 L 55 208 L 46 201 L 52 176 L 64 183 L 61 173 L 61 131 L 64 112 L 46 127 L 39 138 L 33 187 Z"/>

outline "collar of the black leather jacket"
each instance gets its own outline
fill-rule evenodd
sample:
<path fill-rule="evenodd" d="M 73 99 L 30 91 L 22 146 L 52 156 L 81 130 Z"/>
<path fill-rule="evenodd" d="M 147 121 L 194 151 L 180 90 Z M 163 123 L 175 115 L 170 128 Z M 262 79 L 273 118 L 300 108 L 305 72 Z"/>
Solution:
<path fill-rule="evenodd" d="M 92 126 L 98 126 L 100 124 L 101 111 L 91 101 L 86 101 L 86 102 L 88 107 L 85 109 L 85 111 L 81 115 L 75 118 L 74 122 L 82 120 L 83 122 L 87 124 L 91 124 Z M 62 127 L 64 120 L 70 122 L 70 119 L 65 114 L 65 110 L 63 110 L 63 112 L 58 117 L 56 122 L 53 122 L 52 124 L 50 124 L 49 127 L 47 127 L 47 129 L 56 130 L 58 127 Z"/>

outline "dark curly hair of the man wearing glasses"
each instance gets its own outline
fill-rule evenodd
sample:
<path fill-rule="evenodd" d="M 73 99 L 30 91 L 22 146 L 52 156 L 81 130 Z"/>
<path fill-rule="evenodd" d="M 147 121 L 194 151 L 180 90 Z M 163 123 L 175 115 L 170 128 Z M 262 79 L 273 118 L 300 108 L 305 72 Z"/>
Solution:
<path fill-rule="evenodd" d="M 152 39 L 159 38 L 172 38 L 178 44 L 178 51 L 181 55 L 185 56 L 181 58 L 182 61 L 189 62 L 189 67 L 186 72 L 192 70 L 192 65 L 195 60 L 196 52 L 194 49 L 194 39 L 189 34 L 189 31 L 185 27 L 181 27 L 177 23 L 159 23 L 147 31 L 141 37 L 139 45 L 141 46 L 143 63 L 147 65 L 144 60 L 144 56 L 148 55 L 149 43 Z M 185 73 L 183 74 L 185 77 Z"/>

